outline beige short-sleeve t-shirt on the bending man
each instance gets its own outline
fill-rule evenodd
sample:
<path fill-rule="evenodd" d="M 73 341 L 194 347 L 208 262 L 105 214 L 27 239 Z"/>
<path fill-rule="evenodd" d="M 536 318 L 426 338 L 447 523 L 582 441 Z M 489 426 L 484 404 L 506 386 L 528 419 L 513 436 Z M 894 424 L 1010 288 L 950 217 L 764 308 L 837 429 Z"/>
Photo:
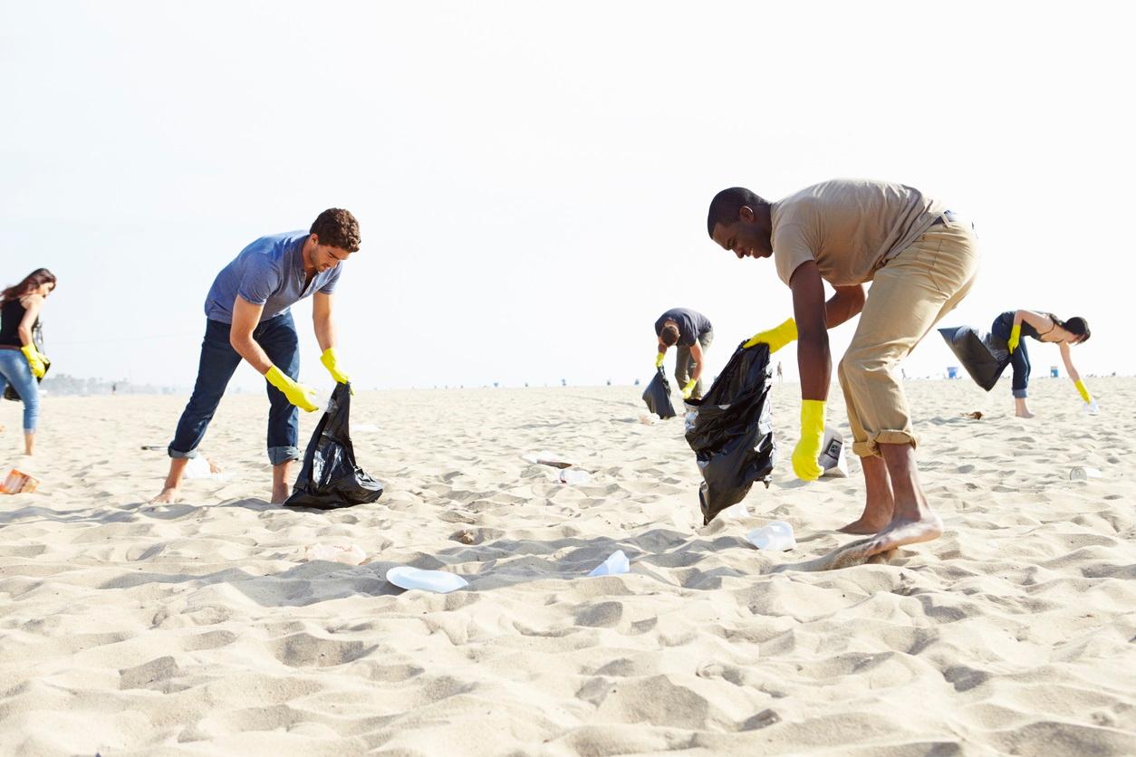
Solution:
<path fill-rule="evenodd" d="M 902 184 L 833 179 L 808 186 L 772 205 L 777 275 L 788 284 L 801 263 L 815 260 L 834 286 L 870 281 L 946 209 Z"/>

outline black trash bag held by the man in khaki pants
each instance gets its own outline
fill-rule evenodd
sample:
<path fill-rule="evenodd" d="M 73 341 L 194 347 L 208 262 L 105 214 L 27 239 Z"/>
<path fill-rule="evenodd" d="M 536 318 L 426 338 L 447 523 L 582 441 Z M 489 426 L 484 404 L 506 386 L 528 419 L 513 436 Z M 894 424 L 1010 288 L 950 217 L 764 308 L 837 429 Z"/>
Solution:
<path fill-rule="evenodd" d="M 701 399 L 687 399 L 686 443 L 694 451 L 702 485 L 702 523 L 740 503 L 754 481 L 769 486 L 777 461 L 769 410 L 769 345 L 738 345 Z"/>

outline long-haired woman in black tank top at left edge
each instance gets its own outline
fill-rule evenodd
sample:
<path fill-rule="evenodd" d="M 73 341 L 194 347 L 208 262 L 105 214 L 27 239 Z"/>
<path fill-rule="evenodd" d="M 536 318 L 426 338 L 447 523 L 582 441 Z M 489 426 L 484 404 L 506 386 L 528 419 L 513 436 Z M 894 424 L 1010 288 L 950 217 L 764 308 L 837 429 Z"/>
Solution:
<path fill-rule="evenodd" d="M 56 275 L 37 268 L 19 284 L 0 293 L 0 397 L 9 387 L 24 403 L 24 454 L 35 454 L 35 426 L 40 418 L 39 379 L 49 361 L 40 353 L 40 313 L 56 288 Z"/>

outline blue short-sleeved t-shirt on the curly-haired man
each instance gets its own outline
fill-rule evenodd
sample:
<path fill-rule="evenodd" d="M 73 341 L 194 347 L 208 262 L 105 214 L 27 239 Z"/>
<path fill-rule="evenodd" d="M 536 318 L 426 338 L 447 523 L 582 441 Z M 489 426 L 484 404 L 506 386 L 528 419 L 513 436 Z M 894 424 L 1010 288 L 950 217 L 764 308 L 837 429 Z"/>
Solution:
<path fill-rule="evenodd" d="M 233 262 L 217 274 L 206 297 L 206 318 L 233 322 L 236 296 L 264 305 L 260 322 L 287 312 L 289 306 L 312 292 L 331 294 L 340 280 L 343 263 L 316 271 L 303 286 L 303 243 L 308 232 L 287 232 L 262 236 L 241 251 Z"/>

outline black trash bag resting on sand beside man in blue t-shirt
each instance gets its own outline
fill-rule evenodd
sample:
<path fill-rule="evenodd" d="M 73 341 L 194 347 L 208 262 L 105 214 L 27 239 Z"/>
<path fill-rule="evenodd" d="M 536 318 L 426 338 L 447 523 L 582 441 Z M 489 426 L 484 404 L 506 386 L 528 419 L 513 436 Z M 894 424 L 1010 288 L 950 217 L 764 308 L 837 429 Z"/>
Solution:
<path fill-rule="evenodd" d="M 303 468 L 285 507 L 335 510 L 375 502 L 383 496 L 383 485 L 356 464 L 348 432 L 351 385 L 336 384 L 327 407 L 303 453 Z"/>

